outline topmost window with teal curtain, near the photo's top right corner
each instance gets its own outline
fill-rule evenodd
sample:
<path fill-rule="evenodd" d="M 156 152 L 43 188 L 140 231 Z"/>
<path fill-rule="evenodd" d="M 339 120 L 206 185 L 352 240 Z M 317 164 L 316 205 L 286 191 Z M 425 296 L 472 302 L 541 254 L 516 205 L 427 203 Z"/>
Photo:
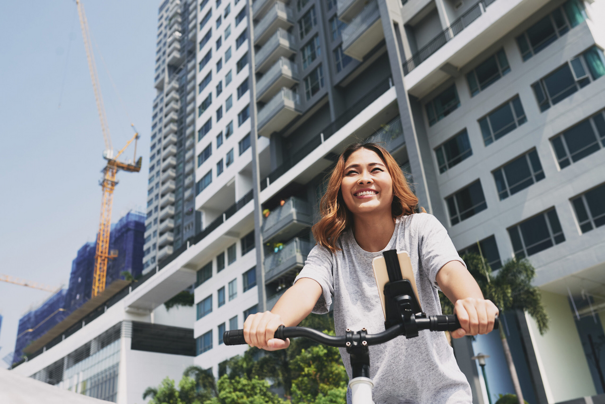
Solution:
<path fill-rule="evenodd" d="M 517 45 L 521 51 L 523 61 L 557 41 L 561 35 L 567 33 L 587 18 L 582 2 L 577 0 L 566 1 L 563 7 L 558 7 L 551 14 L 536 22 L 527 31 L 517 36 Z"/>

